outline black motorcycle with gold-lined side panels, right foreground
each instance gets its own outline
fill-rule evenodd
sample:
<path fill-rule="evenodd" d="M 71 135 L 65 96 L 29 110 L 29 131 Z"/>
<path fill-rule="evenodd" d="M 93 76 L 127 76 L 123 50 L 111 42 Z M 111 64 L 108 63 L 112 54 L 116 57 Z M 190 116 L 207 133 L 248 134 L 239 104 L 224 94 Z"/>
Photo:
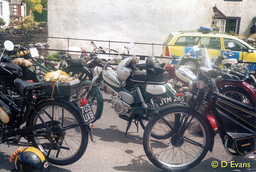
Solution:
<path fill-rule="evenodd" d="M 256 108 L 217 93 L 216 83 L 228 73 L 201 67 L 188 104 L 172 103 L 155 111 L 143 135 L 149 160 L 167 171 L 185 171 L 213 150 L 213 127 L 202 106 L 212 112 L 225 150 L 233 157 L 256 158 Z M 158 133 L 155 139 L 151 133 Z"/>

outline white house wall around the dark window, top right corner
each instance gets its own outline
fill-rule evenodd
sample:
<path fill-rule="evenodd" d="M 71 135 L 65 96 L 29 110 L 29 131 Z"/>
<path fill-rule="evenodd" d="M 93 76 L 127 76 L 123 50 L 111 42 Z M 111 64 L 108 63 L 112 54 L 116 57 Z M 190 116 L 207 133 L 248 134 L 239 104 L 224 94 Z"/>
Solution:
<path fill-rule="evenodd" d="M 250 28 L 254 25 L 253 18 L 256 17 L 256 0 L 224 1 L 212 0 L 213 6 L 227 17 L 241 17 L 240 34 L 250 35 Z"/>

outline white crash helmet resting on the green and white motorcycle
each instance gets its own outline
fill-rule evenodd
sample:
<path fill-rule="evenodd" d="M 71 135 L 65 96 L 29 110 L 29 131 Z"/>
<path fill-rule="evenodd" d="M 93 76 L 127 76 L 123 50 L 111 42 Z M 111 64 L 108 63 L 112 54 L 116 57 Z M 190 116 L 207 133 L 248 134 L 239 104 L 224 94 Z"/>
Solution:
<path fill-rule="evenodd" d="M 126 82 L 134 69 L 135 60 L 133 57 L 123 59 L 117 66 L 117 76 L 122 81 Z"/>

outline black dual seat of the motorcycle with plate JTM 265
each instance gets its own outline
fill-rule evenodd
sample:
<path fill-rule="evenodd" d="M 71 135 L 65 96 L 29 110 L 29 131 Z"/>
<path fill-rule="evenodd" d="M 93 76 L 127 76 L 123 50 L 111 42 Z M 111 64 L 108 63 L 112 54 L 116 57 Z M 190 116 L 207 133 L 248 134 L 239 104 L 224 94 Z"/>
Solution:
<path fill-rule="evenodd" d="M 146 71 L 133 70 L 130 81 L 138 83 L 164 84 L 169 80 L 168 72 L 159 75 L 148 75 Z"/>

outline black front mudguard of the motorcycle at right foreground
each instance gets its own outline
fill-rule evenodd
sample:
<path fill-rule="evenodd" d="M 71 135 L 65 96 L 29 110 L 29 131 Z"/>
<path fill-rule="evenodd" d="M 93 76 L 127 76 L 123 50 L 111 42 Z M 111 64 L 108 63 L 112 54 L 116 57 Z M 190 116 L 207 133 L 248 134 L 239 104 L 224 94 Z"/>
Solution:
<path fill-rule="evenodd" d="M 184 107 L 189 109 L 188 104 L 185 104 L 185 103 L 172 103 L 170 105 L 166 105 L 166 106 L 161 107 L 160 109 L 157 109 L 156 111 L 154 111 L 153 114 L 154 115 L 159 115 L 159 114 L 161 114 L 163 112 L 166 112 L 166 111 L 168 112 L 169 109 L 172 109 L 172 108 L 184 108 Z M 193 109 L 193 110 L 195 111 L 195 109 Z M 211 137 L 210 137 L 211 138 L 211 146 L 210 146 L 210 151 L 212 152 L 213 151 L 213 145 L 214 145 L 213 127 L 212 127 L 209 119 L 206 117 L 206 115 L 204 115 L 204 113 L 202 111 L 198 110 L 197 113 L 199 115 L 201 115 L 206 120 L 208 126 L 210 126 L 210 130 L 211 130 Z"/>

